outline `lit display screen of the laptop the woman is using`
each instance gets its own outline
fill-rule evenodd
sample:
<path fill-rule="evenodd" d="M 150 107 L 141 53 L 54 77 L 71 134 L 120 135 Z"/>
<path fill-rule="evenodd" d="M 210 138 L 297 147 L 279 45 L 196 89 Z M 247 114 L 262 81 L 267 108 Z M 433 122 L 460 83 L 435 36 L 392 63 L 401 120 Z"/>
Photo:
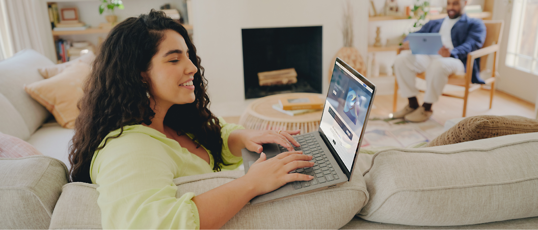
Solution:
<path fill-rule="evenodd" d="M 372 89 L 336 62 L 320 128 L 351 172 Z"/>

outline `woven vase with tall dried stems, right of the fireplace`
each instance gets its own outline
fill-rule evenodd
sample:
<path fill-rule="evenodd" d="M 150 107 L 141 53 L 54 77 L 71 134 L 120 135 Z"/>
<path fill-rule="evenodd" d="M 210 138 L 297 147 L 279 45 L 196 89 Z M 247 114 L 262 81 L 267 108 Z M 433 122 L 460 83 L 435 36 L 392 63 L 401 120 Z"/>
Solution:
<path fill-rule="evenodd" d="M 336 57 L 339 57 L 342 61 L 348 63 L 351 68 L 366 76 L 363 57 L 360 56 L 359 50 L 353 47 L 353 9 L 349 0 L 345 2 L 343 19 L 342 35 L 344 36 L 344 47 L 338 50 L 335 57 L 332 58 L 331 65 L 329 66 L 329 81 L 332 77 L 332 67 L 334 66 Z"/>

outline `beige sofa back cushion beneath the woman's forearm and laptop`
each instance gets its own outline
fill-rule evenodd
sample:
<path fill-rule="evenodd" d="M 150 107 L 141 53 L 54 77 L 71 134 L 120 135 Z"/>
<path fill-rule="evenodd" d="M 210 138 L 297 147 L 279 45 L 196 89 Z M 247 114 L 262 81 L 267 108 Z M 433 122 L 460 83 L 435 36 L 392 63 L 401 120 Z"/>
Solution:
<path fill-rule="evenodd" d="M 196 195 L 243 176 L 228 171 L 174 179 L 176 197 Z M 63 187 L 49 229 L 96 229 L 101 225 L 96 184 L 69 183 Z M 83 199 L 81 197 L 84 197 Z M 360 172 L 342 186 L 265 204 L 247 204 L 221 229 L 338 229 L 347 224 L 368 201 Z"/>

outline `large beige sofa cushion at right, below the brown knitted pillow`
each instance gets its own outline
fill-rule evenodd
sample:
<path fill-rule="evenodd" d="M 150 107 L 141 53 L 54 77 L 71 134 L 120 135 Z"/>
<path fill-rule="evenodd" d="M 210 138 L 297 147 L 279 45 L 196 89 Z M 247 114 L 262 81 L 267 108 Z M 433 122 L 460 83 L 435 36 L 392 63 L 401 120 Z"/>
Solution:
<path fill-rule="evenodd" d="M 359 217 L 419 226 L 471 225 L 538 216 L 538 133 L 373 157 Z"/>

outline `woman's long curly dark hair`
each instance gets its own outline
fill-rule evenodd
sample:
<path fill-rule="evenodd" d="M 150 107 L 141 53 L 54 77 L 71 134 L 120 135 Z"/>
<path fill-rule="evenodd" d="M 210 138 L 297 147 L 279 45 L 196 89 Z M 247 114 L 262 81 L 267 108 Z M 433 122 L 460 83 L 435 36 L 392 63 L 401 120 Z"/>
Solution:
<path fill-rule="evenodd" d="M 187 43 L 189 59 L 198 71 L 194 75 L 193 103 L 173 105 L 166 113 L 164 124 L 176 132 L 192 133 L 194 139 L 211 151 L 215 165 L 220 170 L 222 138 L 218 119 L 209 111 L 206 93 L 207 80 L 196 56 L 196 48 L 185 27 L 161 11 L 151 10 L 140 17 L 131 17 L 115 26 L 103 41 L 93 63 L 93 69 L 84 84 L 84 95 L 78 103 L 80 114 L 75 121 L 75 135 L 70 146 L 70 182 L 91 183 L 90 164 L 103 138 L 111 131 L 125 125 L 151 124 L 155 115 L 146 97 L 148 85 L 143 83 L 141 72 L 151 67 L 164 32 L 172 29 Z M 150 83 L 151 84 L 151 83 Z M 184 122 L 189 121 L 189 122 Z"/>

